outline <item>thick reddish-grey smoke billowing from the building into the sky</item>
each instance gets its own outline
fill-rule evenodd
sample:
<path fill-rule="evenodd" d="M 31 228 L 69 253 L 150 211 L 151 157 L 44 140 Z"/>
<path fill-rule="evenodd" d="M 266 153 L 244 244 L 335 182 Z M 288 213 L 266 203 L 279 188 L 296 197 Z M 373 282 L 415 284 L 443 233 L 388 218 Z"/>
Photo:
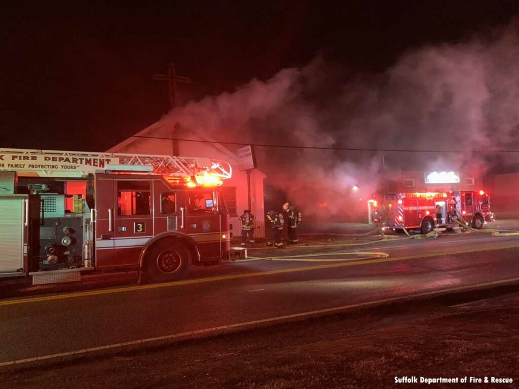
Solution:
<path fill-rule="evenodd" d="M 518 32 L 513 22 L 490 38 L 410 51 L 378 75 L 351 75 L 318 57 L 267 81 L 188 103 L 165 120 L 220 141 L 463 151 L 257 148 L 267 183 L 307 212 L 344 215 L 357 212 L 351 204 L 358 204 L 361 213 L 384 174 L 383 156 L 386 168 L 396 170 L 503 163 L 479 151 L 513 148 L 519 141 Z M 515 163 L 511 156 L 505 162 Z"/>

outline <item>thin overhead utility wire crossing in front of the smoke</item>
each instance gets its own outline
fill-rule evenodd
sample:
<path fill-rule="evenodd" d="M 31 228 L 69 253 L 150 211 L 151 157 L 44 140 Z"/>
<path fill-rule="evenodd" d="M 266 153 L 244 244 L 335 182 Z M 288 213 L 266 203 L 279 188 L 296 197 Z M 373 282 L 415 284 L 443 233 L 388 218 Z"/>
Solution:
<path fill-rule="evenodd" d="M 519 152 L 519 150 L 419 150 L 419 149 L 387 149 L 387 148 L 360 148 L 360 147 L 325 147 L 325 146 L 295 146 L 295 145 L 274 145 L 262 143 L 241 143 L 241 142 L 220 142 L 220 141 L 202 141 L 195 139 L 170 138 L 165 136 L 148 136 L 148 135 L 132 135 L 134 138 L 145 139 L 159 139 L 165 141 L 181 141 L 181 142 L 198 142 L 198 143 L 213 143 L 222 145 L 235 146 L 255 146 L 255 147 L 277 147 L 277 148 L 291 148 L 291 149 L 307 149 L 307 150 L 338 150 L 338 151 L 385 151 L 385 152 L 435 152 L 435 153 L 467 153 L 467 152 L 481 152 L 481 153 L 498 153 L 498 152 Z"/>

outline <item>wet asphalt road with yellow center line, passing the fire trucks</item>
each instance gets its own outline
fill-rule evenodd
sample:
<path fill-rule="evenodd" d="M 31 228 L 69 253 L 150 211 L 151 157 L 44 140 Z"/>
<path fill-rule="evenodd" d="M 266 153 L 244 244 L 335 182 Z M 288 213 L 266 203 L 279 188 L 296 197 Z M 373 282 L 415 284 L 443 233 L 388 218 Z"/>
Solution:
<path fill-rule="evenodd" d="M 357 251 L 389 257 L 352 254 Z M 263 259 L 201 269 L 182 282 L 0 300 L 0 365 L 510 280 L 519 277 L 517 253 L 519 237 L 486 233 L 256 249 L 250 255 Z M 268 259 L 281 255 L 290 258 Z"/>

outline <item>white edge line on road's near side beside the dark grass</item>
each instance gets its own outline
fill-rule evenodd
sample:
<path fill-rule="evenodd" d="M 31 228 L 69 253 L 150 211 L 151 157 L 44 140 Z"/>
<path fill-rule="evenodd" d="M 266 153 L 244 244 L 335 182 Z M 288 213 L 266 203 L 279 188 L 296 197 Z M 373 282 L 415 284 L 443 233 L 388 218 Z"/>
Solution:
<path fill-rule="evenodd" d="M 54 358 L 72 356 L 72 355 L 87 354 L 87 353 L 92 353 L 92 352 L 96 352 L 96 351 L 111 350 L 111 349 L 116 349 L 116 348 L 120 348 L 120 347 L 124 347 L 124 346 L 136 345 L 136 344 L 144 344 L 144 343 L 151 343 L 151 342 L 157 342 L 157 341 L 163 341 L 163 340 L 184 338 L 184 337 L 189 337 L 189 336 L 194 336 L 194 335 L 209 334 L 210 332 L 217 332 L 217 331 L 222 331 L 222 330 L 227 330 L 227 329 L 247 327 L 247 326 L 251 326 L 251 325 L 258 325 L 258 324 L 264 324 L 264 323 L 274 323 L 274 322 L 279 322 L 279 321 L 294 319 L 294 318 L 299 318 L 299 317 L 313 316 L 313 315 L 319 315 L 319 314 L 323 314 L 323 313 L 340 312 L 340 311 L 345 311 L 345 310 L 352 309 L 352 308 L 370 307 L 371 305 L 384 304 L 384 303 L 394 302 L 394 301 L 399 301 L 399 300 L 406 300 L 406 299 L 417 298 L 417 297 L 434 296 L 434 295 L 440 295 L 440 294 L 450 292 L 450 291 L 460 291 L 460 290 L 473 289 L 473 288 L 482 287 L 482 286 L 507 284 L 507 283 L 517 282 L 517 281 L 519 281 L 519 277 L 507 279 L 507 280 L 487 282 L 487 283 L 482 283 L 482 284 L 473 284 L 473 285 L 466 285 L 466 286 L 458 286 L 455 288 L 446 288 L 446 289 L 441 289 L 441 290 L 428 291 L 428 292 L 417 293 L 417 294 L 413 294 L 413 295 L 392 297 L 392 298 L 387 298 L 387 299 L 382 299 L 382 300 L 374 300 L 374 301 L 360 302 L 360 303 L 356 303 L 356 304 L 341 305 L 340 307 L 320 309 L 317 311 L 308 311 L 308 312 L 294 313 L 291 315 L 269 317 L 266 319 L 259 319 L 259 320 L 254 320 L 254 321 L 250 321 L 250 322 L 228 324 L 225 326 L 218 326 L 218 327 L 212 327 L 212 328 L 206 328 L 206 329 L 198 329 L 195 331 L 181 332 L 180 334 L 164 335 L 164 336 L 158 336 L 158 337 L 154 337 L 154 338 L 146 338 L 146 339 L 139 339 L 139 340 L 131 340 L 128 342 L 107 344 L 105 346 L 98 346 L 98 347 L 91 347 L 88 349 L 67 351 L 67 352 L 58 353 L 58 354 L 50 354 L 50 355 L 37 356 L 37 357 L 33 357 L 33 358 L 10 360 L 9 362 L 1 362 L 0 367 L 20 365 L 20 364 L 30 363 L 30 362 L 39 362 L 42 360 L 48 360 L 48 359 L 54 359 Z"/>

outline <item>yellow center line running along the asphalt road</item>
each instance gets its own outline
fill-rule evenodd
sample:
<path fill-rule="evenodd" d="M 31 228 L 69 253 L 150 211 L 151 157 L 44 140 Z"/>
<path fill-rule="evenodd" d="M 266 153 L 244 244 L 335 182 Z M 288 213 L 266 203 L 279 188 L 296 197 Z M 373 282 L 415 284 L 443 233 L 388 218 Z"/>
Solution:
<path fill-rule="evenodd" d="M 367 260 L 355 260 L 355 261 L 349 261 L 349 262 L 329 263 L 326 265 L 305 266 L 305 267 L 301 267 L 301 268 L 276 269 L 276 270 L 268 270 L 268 271 L 258 271 L 258 272 L 253 272 L 253 273 L 229 274 L 229 275 L 206 277 L 206 278 L 194 279 L 194 280 L 165 282 L 165 283 L 160 283 L 160 284 L 133 285 L 133 286 L 111 288 L 111 289 L 87 290 L 87 291 L 60 294 L 60 295 L 18 298 L 18 299 L 13 299 L 13 300 L 0 301 L 0 307 L 4 307 L 6 305 L 25 304 L 25 303 L 30 303 L 30 302 L 63 300 L 63 299 L 70 299 L 70 298 L 75 298 L 75 297 L 108 295 L 108 294 L 121 293 L 121 292 L 125 292 L 125 291 L 133 291 L 133 290 L 158 289 L 158 288 L 180 286 L 180 285 L 191 285 L 191 284 L 201 284 L 201 283 L 206 283 L 206 282 L 236 280 L 236 279 L 257 277 L 257 276 L 264 276 L 264 275 L 295 273 L 295 272 L 308 271 L 308 270 L 320 270 L 320 269 L 332 269 L 332 268 L 340 268 L 340 267 L 348 267 L 348 266 L 370 265 L 372 263 L 394 262 L 394 261 L 402 261 L 402 260 L 407 260 L 407 259 L 418 259 L 418 258 L 430 258 L 430 257 L 443 256 L 443 255 L 478 253 L 478 252 L 486 252 L 486 251 L 499 251 L 499 250 L 506 250 L 506 249 L 510 249 L 510 248 L 519 248 L 519 245 L 514 244 L 514 245 L 500 246 L 500 247 L 471 248 L 471 249 L 462 249 L 462 250 L 455 250 L 455 251 L 449 251 L 449 252 L 439 252 L 439 253 L 436 252 L 436 253 L 428 253 L 428 254 L 407 255 L 407 256 L 394 257 L 394 258 L 374 258 L 374 259 L 367 259 Z M 345 259 L 345 260 L 347 260 L 347 259 Z"/>

